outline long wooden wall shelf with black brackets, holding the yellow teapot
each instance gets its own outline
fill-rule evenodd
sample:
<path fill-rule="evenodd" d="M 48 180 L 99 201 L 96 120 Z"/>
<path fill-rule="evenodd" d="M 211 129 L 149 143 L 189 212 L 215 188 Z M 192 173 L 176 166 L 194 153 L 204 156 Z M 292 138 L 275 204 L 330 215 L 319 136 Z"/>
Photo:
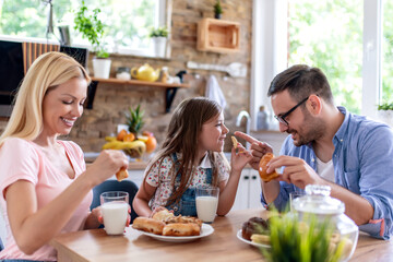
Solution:
<path fill-rule="evenodd" d="M 178 88 L 189 88 L 189 84 L 167 84 L 160 82 L 148 82 L 148 81 L 140 81 L 140 80 L 118 80 L 118 79 L 98 79 L 92 78 L 92 83 L 88 86 L 87 102 L 86 108 L 93 109 L 93 100 L 95 96 L 95 92 L 97 90 L 98 83 L 109 83 L 109 84 L 122 84 L 122 85 L 136 85 L 136 86 L 150 86 L 150 87 L 158 87 L 165 88 L 165 111 L 170 111 L 170 106 L 174 102 L 176 92 Z"/>

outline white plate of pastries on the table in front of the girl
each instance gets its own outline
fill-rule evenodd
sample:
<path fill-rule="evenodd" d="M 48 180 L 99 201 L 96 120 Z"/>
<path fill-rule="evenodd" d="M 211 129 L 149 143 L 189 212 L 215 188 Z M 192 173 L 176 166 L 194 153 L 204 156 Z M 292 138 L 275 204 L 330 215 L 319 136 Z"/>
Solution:
<path fill-rule="evenodd" d="M 211 225 L 192 216 L 175 216 L 168 210 L 162 210 L 153 217 L 136 217 L 132 228 L 142 235 L 167 242 L 187 242 L 207 237 L 214 233 Z"/>

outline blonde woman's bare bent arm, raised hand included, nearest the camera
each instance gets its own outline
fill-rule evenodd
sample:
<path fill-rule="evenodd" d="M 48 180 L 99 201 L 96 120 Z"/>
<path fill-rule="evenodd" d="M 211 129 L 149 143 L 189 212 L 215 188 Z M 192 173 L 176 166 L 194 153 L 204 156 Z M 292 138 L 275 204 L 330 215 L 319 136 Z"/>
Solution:
<path fill-rule="evenodd" d="M 17 180 L 4 190 L 11 230 L 19 248 L 34 253 L 53 238 L 69 222 L 93 187 L 111 177 L 128 160 L 121 152 L 105 151 L 63 192 L 38 210 L 35 186 Z"/>

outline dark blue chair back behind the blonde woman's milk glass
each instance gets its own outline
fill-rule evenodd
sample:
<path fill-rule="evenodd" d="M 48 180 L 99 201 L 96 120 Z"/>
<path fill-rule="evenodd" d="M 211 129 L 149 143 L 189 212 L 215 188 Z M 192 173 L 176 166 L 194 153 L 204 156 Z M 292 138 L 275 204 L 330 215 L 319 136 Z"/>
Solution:
<path fill-rule="evenodd" d="M 119 182 L 118 180 L 106 180 L 100 184 L 96 186 L 93 189 L 93 202 L 91 204 L 91 210 L 100 205 L 99 195 L 103 192 L 107 191 L 124 191 L 129 193 L 129 202 L 131 206 L 131 224 L 138 214 L 132 209 L 132 201 L 138 192 L 138 186 L 131 180 L 122 180 Z"/>

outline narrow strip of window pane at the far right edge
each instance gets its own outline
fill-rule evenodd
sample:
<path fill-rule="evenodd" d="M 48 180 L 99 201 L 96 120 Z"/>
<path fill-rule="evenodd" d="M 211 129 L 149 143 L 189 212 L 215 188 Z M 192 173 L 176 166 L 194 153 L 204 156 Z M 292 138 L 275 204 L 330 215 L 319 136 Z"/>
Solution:
<path fill-rule="evenodd" d="M 393 2 L 383 2 L 381 102 L 393 102 Z"/>

